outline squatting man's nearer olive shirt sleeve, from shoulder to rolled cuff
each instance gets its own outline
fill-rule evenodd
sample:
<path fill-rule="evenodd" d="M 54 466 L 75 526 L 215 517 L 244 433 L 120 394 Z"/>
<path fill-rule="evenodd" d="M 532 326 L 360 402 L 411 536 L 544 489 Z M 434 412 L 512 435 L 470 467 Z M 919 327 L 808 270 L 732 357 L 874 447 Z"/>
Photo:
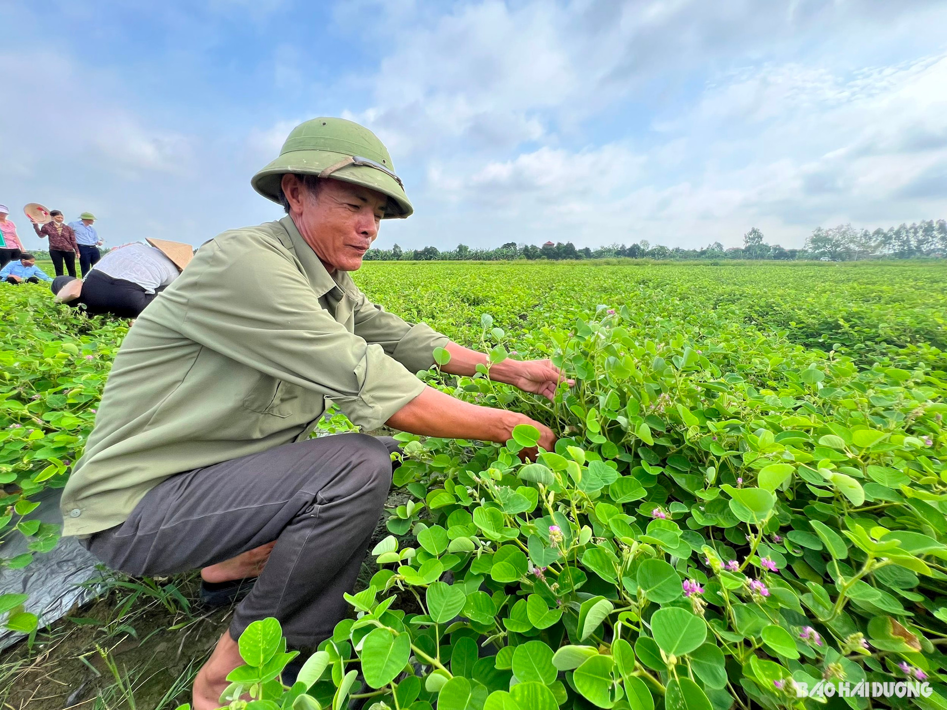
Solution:
<path fill-rule="evenodd" d="M 241 240 L 247 243 L 241 244 Z M 186 301 L 182 335 L 285 382 L 331 399 L 366 430 L 377 429 L 424 384 L 381 344 L 337 323 L 292 257 L 250 237 L 208 244 L 205 268 L 162 297 Z M 241 257 L 252 253 L 253 259 Z M 236 256 L 235 256 L 236 255 Z"/>

